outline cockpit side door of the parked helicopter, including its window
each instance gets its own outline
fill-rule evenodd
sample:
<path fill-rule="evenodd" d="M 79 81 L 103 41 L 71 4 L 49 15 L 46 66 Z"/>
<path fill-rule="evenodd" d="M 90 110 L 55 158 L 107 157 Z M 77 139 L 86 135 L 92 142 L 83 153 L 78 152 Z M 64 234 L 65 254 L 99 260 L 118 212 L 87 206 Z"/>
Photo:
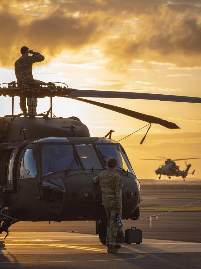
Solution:
<path fill-rule="evenodd" d="M 26 205 L 28 211 L 35 211 L 40 203 L 39 185 L 39 147 L 27 145 L 19 155 L 18 191 L 20 203 Z"/>

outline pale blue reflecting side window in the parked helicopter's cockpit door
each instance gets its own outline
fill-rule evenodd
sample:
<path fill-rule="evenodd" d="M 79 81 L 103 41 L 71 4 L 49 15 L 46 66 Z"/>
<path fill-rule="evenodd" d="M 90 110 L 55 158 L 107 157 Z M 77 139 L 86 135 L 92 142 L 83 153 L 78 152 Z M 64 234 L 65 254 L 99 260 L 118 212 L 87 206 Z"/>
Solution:
<path fill-rule="evenodd" d="M 20 165 L 20 179 L 35 178 L 37 175 L 34 149 L 26 149 Z"/>

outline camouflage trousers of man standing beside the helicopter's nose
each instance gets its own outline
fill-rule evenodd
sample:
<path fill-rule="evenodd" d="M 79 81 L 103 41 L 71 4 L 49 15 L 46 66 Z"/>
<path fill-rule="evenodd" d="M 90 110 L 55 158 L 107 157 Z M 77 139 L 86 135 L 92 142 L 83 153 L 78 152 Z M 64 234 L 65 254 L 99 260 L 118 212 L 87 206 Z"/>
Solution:
<path fill-rule="evenodd" d="M 104 208 L 108 218 L 106 244 L 109 244 L 109 246 L 114 246 L 116 245 L 118 231 L 118 224 L 116 220 L 117 207 L 104 205 Z"/>

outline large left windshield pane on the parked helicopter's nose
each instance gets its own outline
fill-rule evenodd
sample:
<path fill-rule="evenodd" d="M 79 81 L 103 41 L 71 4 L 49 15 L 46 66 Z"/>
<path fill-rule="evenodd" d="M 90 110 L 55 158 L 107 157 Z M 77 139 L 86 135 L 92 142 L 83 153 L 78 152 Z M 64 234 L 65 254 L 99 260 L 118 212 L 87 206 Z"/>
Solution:
<path fill-rule="evenodd" d="M 66 169 L 80 169 L 71 145 L 42 146 L 42 175 Z"/>

